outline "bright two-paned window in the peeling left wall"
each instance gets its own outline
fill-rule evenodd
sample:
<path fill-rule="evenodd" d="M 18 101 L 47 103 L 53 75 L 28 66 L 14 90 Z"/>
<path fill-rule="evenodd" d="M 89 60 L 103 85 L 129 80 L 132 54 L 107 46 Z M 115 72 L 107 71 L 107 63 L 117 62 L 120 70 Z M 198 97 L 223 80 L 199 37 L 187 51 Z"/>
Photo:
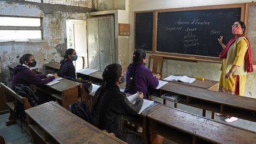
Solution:
<path fill-rule="evenodd" d="M 41 40 L 41 30 L 41 18 L 0 16 L 1 41 Z"/>

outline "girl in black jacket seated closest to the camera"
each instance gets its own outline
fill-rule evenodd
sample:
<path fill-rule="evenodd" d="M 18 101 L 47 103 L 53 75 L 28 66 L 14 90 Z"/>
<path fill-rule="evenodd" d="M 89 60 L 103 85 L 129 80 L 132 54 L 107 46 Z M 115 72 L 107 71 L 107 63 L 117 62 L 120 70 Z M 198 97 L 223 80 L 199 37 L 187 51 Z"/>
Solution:
<path fill-rule="evenodd" d="M 93 124 L 101 130 L 114 133 L 127 143 L 142 143 L 136 135 L 123 131 L 123 115 L 136 115 L 143 104 L 143 94 L 138 92 L 135 104 L 130 103 L 119 84 L 124 80 L 123 68 L 117 63 L 108 65 L 103 72 L 103 85 L 92 100 Z"/>

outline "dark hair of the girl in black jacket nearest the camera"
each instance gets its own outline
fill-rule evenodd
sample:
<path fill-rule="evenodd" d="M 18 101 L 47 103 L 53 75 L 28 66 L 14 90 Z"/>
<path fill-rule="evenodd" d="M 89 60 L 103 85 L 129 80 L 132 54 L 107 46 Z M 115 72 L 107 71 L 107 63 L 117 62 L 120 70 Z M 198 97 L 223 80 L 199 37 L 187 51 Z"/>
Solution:
<path fill-rule="evenodd" d="M 121 77 L 122 66 L 118 63 L 112 63 L 104 69 L 103 82 L 107 84 L 115 84 Z"/>

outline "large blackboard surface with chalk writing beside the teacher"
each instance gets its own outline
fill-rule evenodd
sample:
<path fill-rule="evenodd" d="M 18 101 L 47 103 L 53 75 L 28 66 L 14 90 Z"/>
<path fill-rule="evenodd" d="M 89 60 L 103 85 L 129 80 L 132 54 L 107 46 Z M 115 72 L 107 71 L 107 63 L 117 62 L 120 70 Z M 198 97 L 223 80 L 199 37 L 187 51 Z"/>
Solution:
<path fill-rule="evenodd" d="M 158 12 L 156 51 L 218 57 L 232 39 L 231 25 L 241 20 L 241 8 Z"/>

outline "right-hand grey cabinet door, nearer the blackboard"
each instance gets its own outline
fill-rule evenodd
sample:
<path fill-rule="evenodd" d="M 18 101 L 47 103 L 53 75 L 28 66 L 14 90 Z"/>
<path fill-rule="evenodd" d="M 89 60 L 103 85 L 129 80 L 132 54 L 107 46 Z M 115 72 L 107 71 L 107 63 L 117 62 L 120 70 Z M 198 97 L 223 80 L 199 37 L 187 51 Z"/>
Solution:
<path fill-rule="evenodd" d="M 100 46 L 100 70 L 114 63 L 114 17 L 100 18 L 99 46 Z"/>

